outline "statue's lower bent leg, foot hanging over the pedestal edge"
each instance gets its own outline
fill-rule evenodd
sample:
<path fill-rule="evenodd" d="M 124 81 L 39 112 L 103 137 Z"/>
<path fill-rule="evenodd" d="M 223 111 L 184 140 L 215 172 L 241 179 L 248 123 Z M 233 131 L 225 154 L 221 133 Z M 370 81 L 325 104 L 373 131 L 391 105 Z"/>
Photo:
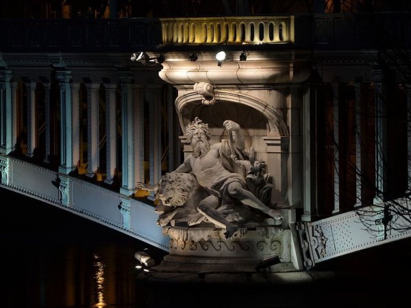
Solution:
<path fill-rule="evenodd" d="M 216 226 L 225 229 L 225 238 L 231 238 L 234 233 L 238 230 L 236 224 L 230 224 L 223 214 L 217 210 L 220 206 L 220 199 L 216 196 L 208 196 L 203 199 L 197 209 L 201 214 L 206 216 L 210 222 L 214 223 Z"/>

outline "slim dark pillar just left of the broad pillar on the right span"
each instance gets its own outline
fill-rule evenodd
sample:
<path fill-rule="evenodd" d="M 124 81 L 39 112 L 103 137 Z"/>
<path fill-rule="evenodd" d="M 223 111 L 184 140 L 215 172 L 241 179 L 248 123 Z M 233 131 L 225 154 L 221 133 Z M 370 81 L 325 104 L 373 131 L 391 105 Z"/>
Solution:
<path fill-rule="evenodd" d="M 361 84 L 354 84 L 356 99 L 356 205 L 362 206 Z"/>

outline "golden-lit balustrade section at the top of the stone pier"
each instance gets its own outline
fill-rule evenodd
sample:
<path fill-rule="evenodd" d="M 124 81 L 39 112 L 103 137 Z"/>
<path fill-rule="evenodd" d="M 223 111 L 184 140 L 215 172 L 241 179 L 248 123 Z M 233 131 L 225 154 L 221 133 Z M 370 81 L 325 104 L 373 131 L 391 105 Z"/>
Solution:
<path fill-rule="evenodd" d="M 294 16 L 161 18 L 163 44 L 294 42 Z"/>

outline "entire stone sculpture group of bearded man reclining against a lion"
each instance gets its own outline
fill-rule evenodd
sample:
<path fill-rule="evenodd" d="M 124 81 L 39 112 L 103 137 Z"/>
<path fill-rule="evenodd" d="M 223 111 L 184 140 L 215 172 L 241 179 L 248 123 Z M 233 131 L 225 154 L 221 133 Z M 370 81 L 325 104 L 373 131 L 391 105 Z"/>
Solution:
<path fill-rule="evenodd" d="M 240 125 L 232 120 L 225 120 L 223 125 L 229 140 L 210 144 L 208 124 L 195 118 L 186 127 L 193 153 L 173 172 L 163 175 L 158 185 L 140 185 L 157 190 L 160 205 L 156 211 L 161 226 L 205 223 L 225 229 L 225 238 L 229 239 L 240 227 L 282 223 L 281 212 L 267 206 L 273 185 L 264 162 L 254 161 L 252 147 L 251 155 L 245 151 Z"/>

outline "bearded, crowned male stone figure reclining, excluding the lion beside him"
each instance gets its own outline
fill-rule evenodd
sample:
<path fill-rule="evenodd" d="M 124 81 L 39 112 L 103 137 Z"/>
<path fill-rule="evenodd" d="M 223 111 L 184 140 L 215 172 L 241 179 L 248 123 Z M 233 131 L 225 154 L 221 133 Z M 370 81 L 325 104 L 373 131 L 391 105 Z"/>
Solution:
<path fill-rule="evenodd" d="M 236 203 L 242 203 L 275 220 L 281 220 L 279 211 L 271 209 L 247 189 L 245 177 L 235 172 L 236 166 L 244 166 L 236 162 L 236 152 L 245 149 L 245 140 L 240 125 L 232 120 L 225 120 L 223 125 L 229 133 L 229 140 L 222 140 L 210 145 L 208 124 L 195 118 L 186 127 L 187 142 L 192 145 L 193 153 L 188 155 L 174 172 L 192 172 L 199 185 L 208 192 L 208 196 L 200 201 L 197 209 L 210 222 L 225 229 L 225 238 L 232 238 L 238 230 L 238 224 L 229 222 L 219 207 L 231 209 Z M 236 138 L 232 132 L 236 132 Z M 230 162 L 231 160 L 231 162 Z M 233 163 L 234 162 L 234 163 Z"/>

